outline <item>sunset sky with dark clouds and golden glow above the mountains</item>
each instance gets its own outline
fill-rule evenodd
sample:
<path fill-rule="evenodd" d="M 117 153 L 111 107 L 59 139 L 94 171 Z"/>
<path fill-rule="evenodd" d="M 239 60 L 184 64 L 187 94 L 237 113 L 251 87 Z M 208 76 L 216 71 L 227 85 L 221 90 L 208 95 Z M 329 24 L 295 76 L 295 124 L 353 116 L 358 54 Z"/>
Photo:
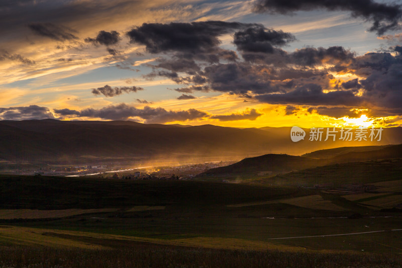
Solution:
<path fill-rule="evenodd" d="M 402 126 L 402 1 L 1 0 L 0 120 Z"/>

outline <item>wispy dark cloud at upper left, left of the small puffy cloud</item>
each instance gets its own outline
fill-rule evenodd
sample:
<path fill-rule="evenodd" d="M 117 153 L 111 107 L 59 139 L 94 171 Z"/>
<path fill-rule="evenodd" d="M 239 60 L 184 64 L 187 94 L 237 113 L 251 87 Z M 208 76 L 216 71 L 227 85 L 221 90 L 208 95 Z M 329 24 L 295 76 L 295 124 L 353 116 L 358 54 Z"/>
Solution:
<path fill-rule="evenodd" d="M 52 23 L 31 23 L 28 24 L 28 28 L 35 34 L 40 36 L 46 36 L 57 41 L 77 39 L 71 32 L 71 29 L 66 27 L 57 26 Z"/>

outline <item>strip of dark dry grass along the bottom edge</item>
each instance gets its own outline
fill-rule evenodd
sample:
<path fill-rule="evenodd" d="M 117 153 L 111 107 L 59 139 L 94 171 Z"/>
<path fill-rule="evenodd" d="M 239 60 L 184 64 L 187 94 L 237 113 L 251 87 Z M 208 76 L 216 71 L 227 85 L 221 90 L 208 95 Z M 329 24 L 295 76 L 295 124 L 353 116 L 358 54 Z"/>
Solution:
<path fill-rule="evenodd" d="M 247 251 L 138 245 L 124 249 L 1 247 L 1 268 L 23 267 L 400 267 L 398 257 L 367 253 Z"/>

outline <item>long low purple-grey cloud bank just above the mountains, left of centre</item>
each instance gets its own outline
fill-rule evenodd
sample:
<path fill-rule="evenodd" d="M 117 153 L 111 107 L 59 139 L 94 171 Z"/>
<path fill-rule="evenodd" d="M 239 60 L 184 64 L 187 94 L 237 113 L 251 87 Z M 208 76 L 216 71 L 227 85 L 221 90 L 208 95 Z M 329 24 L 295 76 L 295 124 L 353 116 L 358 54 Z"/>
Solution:
<path fill-rule="evenodd" d="M 166 123 L 173 121 L 196 120 L 206 117 L 208 114 L 196 109 L 184 111 L 167 111 L 163 108 L 151 108 L 145 106 L 138 109 L 127 104 L 111 105 L 101 109 L 87 108 L 81 111 L 69 109 L 55 109 L 54 112 L 61 116 L 102 118 L 107 120 L 128 120 L 131 117 L 139 117 L 146 123 Z"/>

